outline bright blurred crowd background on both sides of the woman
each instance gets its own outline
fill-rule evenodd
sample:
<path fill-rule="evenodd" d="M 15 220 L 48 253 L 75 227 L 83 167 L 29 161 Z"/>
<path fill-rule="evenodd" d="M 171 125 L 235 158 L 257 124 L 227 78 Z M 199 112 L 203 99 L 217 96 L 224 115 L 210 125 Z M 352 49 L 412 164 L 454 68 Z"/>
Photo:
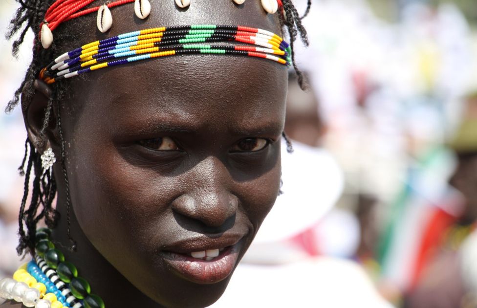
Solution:
<path fill-rule="evenodd" d="M 0 2 L 2 34 L 16 7 Z M 248 284 L 270 291 L 257 306 L 477 307 L 477 1 L 313 0 L 303 22 L 283 195 L 215 306 Z M 18 59 L 0 41 L 2 106 L 32 40 Z M 21 110 L 0 113 L 0 277 L 21 263 L 25 137 Z"/>

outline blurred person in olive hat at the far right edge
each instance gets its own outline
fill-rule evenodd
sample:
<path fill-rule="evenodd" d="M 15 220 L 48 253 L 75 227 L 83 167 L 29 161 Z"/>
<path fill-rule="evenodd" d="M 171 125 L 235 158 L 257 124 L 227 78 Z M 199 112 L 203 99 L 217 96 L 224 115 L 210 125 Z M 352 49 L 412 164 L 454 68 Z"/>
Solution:
<path fill-rule="evenodd" d="M 428 247 L 428 262 L 407 295 L 406 308 L 477 307 L 477 259 L 472 259 L 475 235 L 462 245 L 477 226 L 477 93 L 467 97 L 466 107 L 460 128 L 449 143 L 458 160 L 450 183 L 464 196 L 465 207 L 442 234 L 433 235 L 436 241 Z"/>

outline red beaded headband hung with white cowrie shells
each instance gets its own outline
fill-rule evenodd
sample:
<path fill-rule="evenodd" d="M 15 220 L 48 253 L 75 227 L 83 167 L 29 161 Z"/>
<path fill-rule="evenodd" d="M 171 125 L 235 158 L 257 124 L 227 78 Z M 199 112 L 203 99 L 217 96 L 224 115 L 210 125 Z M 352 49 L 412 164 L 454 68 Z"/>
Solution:
<path fill-rule="evenodd" d="M 134 2 L 134 13 L 140 19 L 145 19 L 151 13 L 151 3 L 149 0 L 116 0 L 113 2 L 84 9 L 95 0 L 56 0 L 46 11 L 43 22 L 40 24 L 40 38 L 43 48 L 47 49 L 53 43 L 52 31 L 61 23 L 97 12 L 97 27 L 101 32 L 108 31 L 112 26 L 112 15 L 109 10 L 112 7 Z M 180 8 L 185 8 L 191 4 L 191 0 L 174 0 Z M 233 0 L 240 5 L 245 0 Z M 282 0 L 260 0 L 263 9 L 274 14 L 282 8 Z"/>

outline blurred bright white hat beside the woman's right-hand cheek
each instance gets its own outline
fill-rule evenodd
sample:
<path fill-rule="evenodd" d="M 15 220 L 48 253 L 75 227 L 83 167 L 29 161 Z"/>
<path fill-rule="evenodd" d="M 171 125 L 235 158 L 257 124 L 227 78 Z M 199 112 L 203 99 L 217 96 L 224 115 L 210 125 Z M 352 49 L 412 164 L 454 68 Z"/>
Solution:
<path fill-rule="evenodd" d="M 341 196 L 343 173 L 326 150 L 282 142 L 282 192 L 263 221 L 254 243 L 293 237 L 320 220 Z M 253 244 L 252 244 L 253 245 Z"/>

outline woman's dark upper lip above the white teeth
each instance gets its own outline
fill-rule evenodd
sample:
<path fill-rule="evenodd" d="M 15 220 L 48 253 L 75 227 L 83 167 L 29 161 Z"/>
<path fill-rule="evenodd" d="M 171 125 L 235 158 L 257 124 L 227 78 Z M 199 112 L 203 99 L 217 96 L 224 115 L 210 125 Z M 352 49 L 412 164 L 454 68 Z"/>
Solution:
<path fill-rule="evenodd" d="M 245 234 L 243 233 L 224 233 L 217 237 L 200 234 L 164 245 L 161 250 L 174 253 L 191 253 L 194 251 L 220 249 L 235 245 L 244 236 Z"/>

